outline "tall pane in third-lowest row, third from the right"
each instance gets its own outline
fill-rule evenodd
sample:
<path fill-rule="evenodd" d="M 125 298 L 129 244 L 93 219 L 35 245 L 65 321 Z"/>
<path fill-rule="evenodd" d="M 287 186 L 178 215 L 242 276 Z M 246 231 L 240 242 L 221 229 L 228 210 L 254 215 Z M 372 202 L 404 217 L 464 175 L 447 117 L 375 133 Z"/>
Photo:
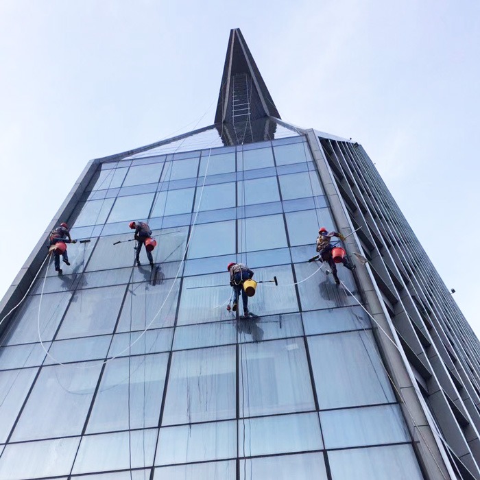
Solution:
<path fill-rule="evenodd" d="M 162 425 L 235 418 L 235 347 L 173 352 Z"/>

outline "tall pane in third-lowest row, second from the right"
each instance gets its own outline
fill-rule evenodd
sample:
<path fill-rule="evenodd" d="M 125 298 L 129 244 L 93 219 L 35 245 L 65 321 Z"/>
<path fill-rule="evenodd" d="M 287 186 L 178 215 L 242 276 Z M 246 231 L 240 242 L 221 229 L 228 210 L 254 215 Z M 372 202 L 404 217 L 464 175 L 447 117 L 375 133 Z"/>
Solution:
<path fill-rule="evenodd" d="M 302 339 L 243 344 L 239 355 L 240 416 L 315 408 Z"/>

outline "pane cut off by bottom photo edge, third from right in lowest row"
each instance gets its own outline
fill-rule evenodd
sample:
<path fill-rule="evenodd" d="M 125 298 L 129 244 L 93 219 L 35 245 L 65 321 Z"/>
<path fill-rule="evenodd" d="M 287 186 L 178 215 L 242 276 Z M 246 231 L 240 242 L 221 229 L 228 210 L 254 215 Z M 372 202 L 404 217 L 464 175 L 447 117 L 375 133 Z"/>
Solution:
<path fill-rule="evenodd" d="M 154 480 L 235 480 L 235 461 L 210 461 L 155 469 Z"/>

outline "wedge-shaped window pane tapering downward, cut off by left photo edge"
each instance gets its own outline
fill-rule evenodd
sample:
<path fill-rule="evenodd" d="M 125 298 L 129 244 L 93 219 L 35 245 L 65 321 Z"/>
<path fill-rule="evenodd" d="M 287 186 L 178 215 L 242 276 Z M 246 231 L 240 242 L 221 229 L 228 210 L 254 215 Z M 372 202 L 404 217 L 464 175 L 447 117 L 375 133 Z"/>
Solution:
<path fill-rule="evenodd" d="M 0 443 L 7 441 L 16 416 L 19 414 L 37 372 L 38 368 L 0 372 Z M 0 465 L 5 462 L 4 455 Z"/>

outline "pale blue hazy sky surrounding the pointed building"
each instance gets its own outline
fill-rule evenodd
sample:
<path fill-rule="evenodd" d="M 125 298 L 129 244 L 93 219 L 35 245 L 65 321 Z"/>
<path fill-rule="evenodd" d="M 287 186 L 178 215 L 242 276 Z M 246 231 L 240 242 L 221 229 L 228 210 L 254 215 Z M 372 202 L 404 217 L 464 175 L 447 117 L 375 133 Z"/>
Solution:
<path fill-rule="evenodd" d="M 478 335 L 480 4 L 464 0 L 3 0 L 0 295 L 88 160 L 213 122 L 234 27 L 283 119 L 363 145 Z"/>

